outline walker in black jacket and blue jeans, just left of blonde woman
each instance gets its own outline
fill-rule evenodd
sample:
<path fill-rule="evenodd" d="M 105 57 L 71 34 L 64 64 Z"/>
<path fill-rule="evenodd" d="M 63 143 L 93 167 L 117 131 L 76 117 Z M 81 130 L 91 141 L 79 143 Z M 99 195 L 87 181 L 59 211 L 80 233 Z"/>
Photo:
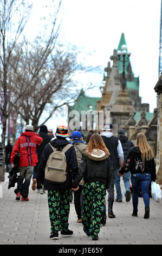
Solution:
<path fill-rule="evenodd" d="M 129 154 L 129 150 L 134 147 L 134 144 L 132 141 L 129 141 L 129 139 L 125 135 L 125 130 L 124 129 L 119 129 L 118 131 L 119 139 L 122 145 L 122 150 L 124 152 L 124 164 L 126 162 L 127 156 Z M 118 170 L 117 170 L 118 172 Z M 129 202 L 131 200 L 131 190 L 130 190 L 130 178 L 131 178 L 131 173 L 130 171 L 125 173 L 124 176 L 122 176 L 122 179 L 124 181 L 125 185 L 125 197 L 126 197 L 126 202 Z M 120 187 L 120 175 L 118 173 L 116 174 L 115 178 L 115 187 L 116 187 L 116 199 L 115 202 L 122 202 L 122 193 L 121 193 L 121 187 Z"/>

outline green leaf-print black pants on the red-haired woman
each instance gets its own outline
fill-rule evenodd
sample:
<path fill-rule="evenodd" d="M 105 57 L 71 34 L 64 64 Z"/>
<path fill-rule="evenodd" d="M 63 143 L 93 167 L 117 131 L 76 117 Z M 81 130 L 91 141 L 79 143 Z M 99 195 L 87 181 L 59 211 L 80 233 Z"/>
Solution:
<path fill-rule="evenodd" d="M 89 231 L 92 238 L 100 232 L 101 219 L 105 206 L 105 184 L 96 181 L 85 183 L 83 187 L 83 229 Z"/>

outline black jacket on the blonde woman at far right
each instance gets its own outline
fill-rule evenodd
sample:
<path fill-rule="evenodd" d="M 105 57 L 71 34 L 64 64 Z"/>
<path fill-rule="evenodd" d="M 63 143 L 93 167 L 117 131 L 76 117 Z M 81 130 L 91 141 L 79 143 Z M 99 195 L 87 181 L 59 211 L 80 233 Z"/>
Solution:
<path fill-rule="evenodd" d="M 151 174 L 151 180 L 155 181 L 156 179 L 156 169 L 154 158 L 152 160 L 141 159 L 141 151 L 139 147 L 133 147 L 129 151 L 127 156 L 126 163 L 124 167 L 119 171 L 121 174 L 131 171 L 131 174 L 135 173 L 148 173 Z"/>

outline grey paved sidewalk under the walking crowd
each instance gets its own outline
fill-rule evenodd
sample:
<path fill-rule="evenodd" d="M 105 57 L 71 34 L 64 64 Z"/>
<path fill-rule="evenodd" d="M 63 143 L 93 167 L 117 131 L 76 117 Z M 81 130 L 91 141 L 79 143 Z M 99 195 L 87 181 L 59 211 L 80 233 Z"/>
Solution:
<path fill-rule="evenodd" d="M 126 203 L 114 202 L 116 218 L 107 218 L 101 226 L 99 240 L 93 241 L 83 233 L 83 226 L 77 223 L 74 202 L 70 203 L 69 229 L 72 237 L 50 240 L 50 222 L 46 194 L 29 192 L 29 202 L 17 202 L 14 188 L 8 190 L 8 178 L 1 182 L 3 198 L 0 198 L 0 245 L 161 245 L 162 244 L 162 203 L 151 198 L 150 218 L 144 219 L 144 203 L 139 198 L 138 217 L 132 217 L 132 198 Z M 122 191 L 124 183 L 121 180 Z M 106 200 L 107 206 L 107 200 Z M 106 207 L 107 208 L 107 207 Z"/>

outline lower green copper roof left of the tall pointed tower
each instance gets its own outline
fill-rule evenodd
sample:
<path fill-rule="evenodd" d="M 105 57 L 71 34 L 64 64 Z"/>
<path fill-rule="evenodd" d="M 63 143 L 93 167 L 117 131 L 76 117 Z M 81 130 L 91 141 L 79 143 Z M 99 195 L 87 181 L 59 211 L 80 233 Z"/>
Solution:
<path fill-rule="evenodd" d="M 88 97 L 85 95 L 84 91 L 81 90 L 76 103 L 73 106 L 69 106 L 69 111 L 76 110 L 81 114 L 81 111 L 88 111 L 89 106 L 96 110 L 96 102 L 100 100 L 101 97 Z"/>

